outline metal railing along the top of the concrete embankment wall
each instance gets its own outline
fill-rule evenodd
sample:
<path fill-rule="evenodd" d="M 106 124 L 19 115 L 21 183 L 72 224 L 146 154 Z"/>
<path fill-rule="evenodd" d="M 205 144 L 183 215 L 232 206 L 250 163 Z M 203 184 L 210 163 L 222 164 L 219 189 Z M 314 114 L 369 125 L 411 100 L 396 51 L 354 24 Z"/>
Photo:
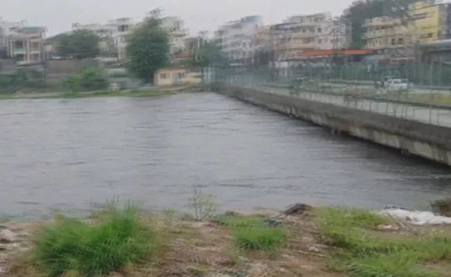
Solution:
<path fill-rule="evenodd" d="M 243 70 L 235 70 L 235 73 L 216 71 L 216 82 L 451 127 L 451 106 L 411 101 L 409 91 L 386 92 L 356 86 L 334 87 L 329 86 L 327 80 L 305 80 L 302 84 L 293 84 L 293 80 L 284 76 L 276 75 L 271 80 L 267 75 Z"/>

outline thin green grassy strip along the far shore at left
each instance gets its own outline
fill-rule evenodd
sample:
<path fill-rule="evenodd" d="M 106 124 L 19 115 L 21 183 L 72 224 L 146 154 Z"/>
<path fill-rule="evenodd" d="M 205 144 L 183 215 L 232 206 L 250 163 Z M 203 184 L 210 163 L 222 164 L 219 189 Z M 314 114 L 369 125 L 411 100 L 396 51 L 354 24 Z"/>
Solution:
<path fill-rule="evenodd" d="M 0 99 L 70 99 L 93 97 L 151 97 L 176 93 L 174 90 L 84 91 L 65 93 L 11 93 L 1 94 Z"/>

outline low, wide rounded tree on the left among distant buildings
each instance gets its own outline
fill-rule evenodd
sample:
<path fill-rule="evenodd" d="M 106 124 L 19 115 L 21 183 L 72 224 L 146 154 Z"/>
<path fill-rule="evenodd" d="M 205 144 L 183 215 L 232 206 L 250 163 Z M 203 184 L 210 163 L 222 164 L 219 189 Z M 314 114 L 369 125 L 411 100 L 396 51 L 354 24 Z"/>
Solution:
<path fill-rule="evenodd" d="M 100 53 L 99 37 L 90 30 L 76 30 L 55 39 L 56 52 L 67 59 L 96 57 Z"/>

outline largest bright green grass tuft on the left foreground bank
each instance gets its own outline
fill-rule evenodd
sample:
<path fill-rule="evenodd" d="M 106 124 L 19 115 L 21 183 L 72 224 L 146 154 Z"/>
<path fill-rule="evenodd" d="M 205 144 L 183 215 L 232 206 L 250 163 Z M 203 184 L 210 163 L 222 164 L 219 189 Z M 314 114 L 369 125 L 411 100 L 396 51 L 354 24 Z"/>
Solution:
<path fill-rule="evenodd" d="M 48 276 L 73 271 L 97 276 L 144 262 L 155 254 L 158 240 L 138 217 L 131 204 L 122 209 L 110 204 L 92 225 L 63 217 L 37 233 L 31 259 Z"/>

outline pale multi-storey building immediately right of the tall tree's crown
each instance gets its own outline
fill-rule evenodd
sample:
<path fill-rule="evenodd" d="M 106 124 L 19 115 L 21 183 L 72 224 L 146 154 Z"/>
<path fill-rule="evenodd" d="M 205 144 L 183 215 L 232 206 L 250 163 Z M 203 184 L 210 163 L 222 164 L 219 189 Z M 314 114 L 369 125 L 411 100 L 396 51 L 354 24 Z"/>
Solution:
<path fill-rule="evenodd" d="M 180 17 L 163 17 L 162 28 L 169 35 L 169 53 L 181 53 L 186 51 L 185 37 L 189 30 L 185 28 L 185 21 Z"/>

